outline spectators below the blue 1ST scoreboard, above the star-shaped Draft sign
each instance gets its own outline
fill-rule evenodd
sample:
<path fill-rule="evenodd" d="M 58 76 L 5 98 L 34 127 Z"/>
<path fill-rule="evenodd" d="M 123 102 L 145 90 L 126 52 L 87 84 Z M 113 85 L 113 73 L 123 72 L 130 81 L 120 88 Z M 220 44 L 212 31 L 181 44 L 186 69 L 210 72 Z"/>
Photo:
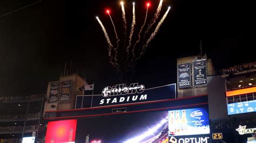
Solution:
<path fill-rule="evenodd" d="M 211 121 L 212 129 L 235 129 L 239 125 L 252 125 L 256 124 L 255 120 L 243 120 L 243 121 Z"/>

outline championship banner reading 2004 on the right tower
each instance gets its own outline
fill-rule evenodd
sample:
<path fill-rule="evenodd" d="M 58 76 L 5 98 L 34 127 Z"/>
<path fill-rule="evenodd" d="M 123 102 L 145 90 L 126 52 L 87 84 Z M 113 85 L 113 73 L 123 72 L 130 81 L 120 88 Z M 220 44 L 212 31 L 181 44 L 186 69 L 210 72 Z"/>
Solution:
<path fill-rule="evenodd" d="M 179 88 L 191 87 L 190 63 L 178 65 L 178 86 Z"/>

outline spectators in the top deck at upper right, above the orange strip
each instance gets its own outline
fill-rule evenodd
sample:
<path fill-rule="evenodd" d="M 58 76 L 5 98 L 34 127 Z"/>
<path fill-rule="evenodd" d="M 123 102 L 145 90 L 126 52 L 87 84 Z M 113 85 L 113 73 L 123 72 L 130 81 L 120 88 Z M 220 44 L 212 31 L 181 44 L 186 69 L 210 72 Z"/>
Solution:
<path fill-rule="evenodd" d="M 227 69 L 222 69 L 222 74 L 233 74 L 233 73 L 238 73 L 241 71 L 245 71 L 245 70 L 251 70 L 251 69 L 256 69 L 256 62 L 250 62 L 250 63 L 244 63 L 242 65 L 238 65 L 238 66 L 232 66 L 230 68 Z"/>

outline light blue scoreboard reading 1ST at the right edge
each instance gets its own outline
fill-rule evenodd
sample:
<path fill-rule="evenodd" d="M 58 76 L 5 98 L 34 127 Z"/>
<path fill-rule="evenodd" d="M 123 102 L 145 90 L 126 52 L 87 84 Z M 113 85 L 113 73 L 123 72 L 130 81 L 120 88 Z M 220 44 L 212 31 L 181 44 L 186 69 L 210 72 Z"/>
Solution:
<path fill-rule="evenodd" d="M 227 104 L 227 114 L 249 113 L 256 111 L 256 100 Z"/>

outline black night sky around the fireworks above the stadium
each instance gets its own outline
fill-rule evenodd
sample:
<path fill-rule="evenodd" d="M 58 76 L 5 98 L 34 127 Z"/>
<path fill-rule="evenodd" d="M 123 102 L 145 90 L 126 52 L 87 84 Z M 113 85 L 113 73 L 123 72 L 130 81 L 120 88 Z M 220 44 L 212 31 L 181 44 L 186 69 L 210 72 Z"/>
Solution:
<path fill-rule="evenodd" d="M 35 0 L 2 0 L 0 15 Z M 130 29 L 132 2 L 125 1 Z M 147 1 L 136 2 L 137 31 L 143 23 Z M 149 18 L 159 1 L 151 1 Z M 156 38 L 138 61 L 130 82 L 154 87 L 176 82 L 176 59 L 200 53 L 211 58 L 215 69 L 255 61 L 255 10 L 252 2 L 164 0 L 159 18 L 172 9 Z M 110 65 L 107 43 L 96 16 L 114 41 L 105 9 L 111 9 L 118 33 L 122 33 L 119 1 L 44 0 L 0 18 L 0 95 L 46 93 L 48 82 L 57 81 L 65 62 L 72 73 L 95 82 L 96 94 L 122 81 Z M 138 34 L 138 33 L 137 33 Z M 136 35 L 136 33 L 134 33 Z M 70 67 L 68 66 L 69 73 Z"/>

